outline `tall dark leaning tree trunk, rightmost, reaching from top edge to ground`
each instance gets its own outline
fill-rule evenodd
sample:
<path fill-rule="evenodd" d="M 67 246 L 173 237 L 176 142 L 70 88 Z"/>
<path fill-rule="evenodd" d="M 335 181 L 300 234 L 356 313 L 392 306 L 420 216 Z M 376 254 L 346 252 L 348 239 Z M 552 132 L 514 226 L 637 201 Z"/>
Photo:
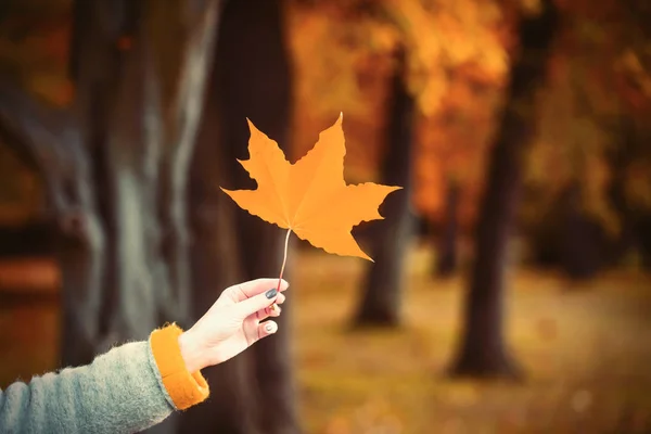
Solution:
<path fill-rule="evenodd" d="M 503 268 L 524 153 L 535 135 L 536 92 L 542 87 L 557 28 L 551 1 L 523 18 L 521 53 L 511 66 L 507 105 L 492 150 L 480 207 L 475 260 L 464 307 L 464 330 L 452 375 L 513 376 L 519 368 L 503 335 Z"/>

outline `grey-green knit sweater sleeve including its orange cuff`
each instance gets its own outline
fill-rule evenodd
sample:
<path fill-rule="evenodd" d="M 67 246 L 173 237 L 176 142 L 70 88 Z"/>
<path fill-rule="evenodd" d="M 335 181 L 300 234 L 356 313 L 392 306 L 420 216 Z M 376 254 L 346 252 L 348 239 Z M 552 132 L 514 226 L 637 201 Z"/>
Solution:
<path fill-rule="evenodd" d="M 178 327 L 168 326 L 88 366 L 0 390 L 0 432 L 133 433 L 204 400 L 207 384 L 201 373 L 186 370 L 179 334 Z"/>

